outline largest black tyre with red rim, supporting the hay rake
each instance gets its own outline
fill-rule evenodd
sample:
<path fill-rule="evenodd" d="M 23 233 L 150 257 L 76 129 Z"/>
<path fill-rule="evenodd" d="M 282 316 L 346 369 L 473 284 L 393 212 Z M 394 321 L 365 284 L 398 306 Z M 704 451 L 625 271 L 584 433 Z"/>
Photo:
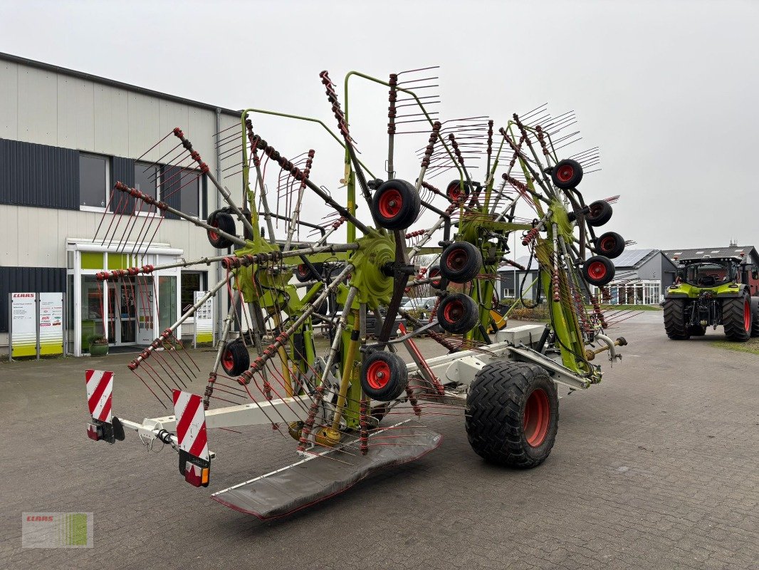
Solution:
<path fill-rule="evenodd" d="M 467 409 L 469 445 L 486 461 L 524 469 L 549 456 L 559 428 L 559 396 L 540 366 L 488 364 L 469 387 Z"/>

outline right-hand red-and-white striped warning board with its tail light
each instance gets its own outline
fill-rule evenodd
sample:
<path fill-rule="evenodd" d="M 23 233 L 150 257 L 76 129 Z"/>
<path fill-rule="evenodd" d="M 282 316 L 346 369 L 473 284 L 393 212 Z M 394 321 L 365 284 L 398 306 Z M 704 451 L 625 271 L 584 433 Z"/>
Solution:
<path fill-rule="evenodd" d="M 174 414 L 177 420 L 179 473 L 196 487 L 207 487 L 211 468 L 206 435 L 206 413 L 197 394 L 174 391 Z"/>

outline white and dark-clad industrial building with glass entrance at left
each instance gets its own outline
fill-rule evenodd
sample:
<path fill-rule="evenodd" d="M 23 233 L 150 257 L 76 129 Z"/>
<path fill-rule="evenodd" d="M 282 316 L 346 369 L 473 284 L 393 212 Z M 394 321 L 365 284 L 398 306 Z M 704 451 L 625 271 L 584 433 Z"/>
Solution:
<path fill-rule="evenodd" d="M 153 145 L 180 127 L 222 179 L 216 133 L 239 121 L 231 109 L 0 53 L 0 344 L 8 343 L 8 294 L 16 292 L 65 293 L 66 350 L 75 356 L 87 352 L 93 333 L 105 331 L 111 347 L 148 344 L 174 322 L 195 291 L 216 282 L 208 271 L 219 269 L 156 271 L 109 284 L 107 294 L 95 274 L 219 250 L 203 230 L 171 214 L 134 204 L 119 210 L 112 187 L 121 181 L 206 217 L 219 207 L 206 176 L 197 173 L 173 192 L 165 182 L 176 140 Z M 241 176 L 224 184 L 241 188 Z M 151 242 L 125 236 L 127 247 L 118 249 L 93 240 L 101 223 L 136 226 L 156 216 L 162 219 Z M 192 321 L 178 336 L 188 328 Z"/>

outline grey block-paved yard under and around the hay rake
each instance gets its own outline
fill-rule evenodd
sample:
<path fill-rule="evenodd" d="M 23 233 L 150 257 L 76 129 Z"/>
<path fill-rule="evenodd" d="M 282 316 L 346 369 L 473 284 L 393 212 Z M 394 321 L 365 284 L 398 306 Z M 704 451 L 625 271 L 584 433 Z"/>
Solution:
<path fill-rule="evenodd" d="M 170 449 L 85 435 L 93 364 L 118 372 L 117 413 L 162 412 L 129 356 L 2 364 L 0 568 L 757 568 L 759 356 L 711 347 L 721 331 L 669 341 L 660 319 L 613 330 L 622 363 L 562 399 L 540 467 L 491 467 L 460 418 L 430 417 L 437 451 L 270 523 L 209 496 L 288 464 L 293 442 L 212 432 L 194 489 Z M 22 511 L 93 511 L 93 549 L 22 549 Z"/>

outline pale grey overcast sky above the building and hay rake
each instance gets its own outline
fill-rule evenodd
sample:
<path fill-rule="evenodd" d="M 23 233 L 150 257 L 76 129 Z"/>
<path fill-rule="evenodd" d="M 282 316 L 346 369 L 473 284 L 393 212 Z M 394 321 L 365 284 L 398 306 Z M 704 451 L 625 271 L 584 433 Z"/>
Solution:
<path fill-rule="evenodd" d="M 757 0 L 0 6 L 3 52 L 330 126 L 321 70 L 342 96 L 351 69 L 386 79 L 440 65 L 444 119 L 489 115 L 497 128 L 541 103 L 554 114 L 574 109 L 584 138 L 570 154 L 600 146 L 603 168 L 580 189 L 587 201 L 622 196 L 606 228 L 625 239 L 660 249 L 759 244 Z M 378 176 L 386 105 L 386 90 L 351 83 L 351 128 Z M 344 192 L 342 159 L 322 133 L 281 120 L 257 128 L 282 154 L 315 148 L 313 179 Z M 399 144 L 398 176 L 417 176 L 412 151 L 425 139 Z"/>

